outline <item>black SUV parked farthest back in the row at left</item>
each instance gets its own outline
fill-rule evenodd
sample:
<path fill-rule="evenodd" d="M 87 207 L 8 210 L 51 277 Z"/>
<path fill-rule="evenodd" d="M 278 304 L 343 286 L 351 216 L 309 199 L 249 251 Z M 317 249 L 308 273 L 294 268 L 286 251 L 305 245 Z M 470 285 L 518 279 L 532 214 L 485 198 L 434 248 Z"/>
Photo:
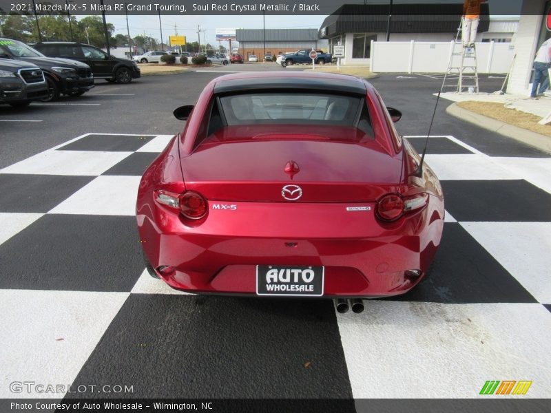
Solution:
<path fill-rule="evenodd" d="M 108 82 L 130 83 L 141 76 L 138 65 L 129 59 L 109 56 L 103 50 L 91 45 L 72 41 L 45 41 L 34 47 L 51 57 L 74 59 L 90 65 L 94 78 Z"/>

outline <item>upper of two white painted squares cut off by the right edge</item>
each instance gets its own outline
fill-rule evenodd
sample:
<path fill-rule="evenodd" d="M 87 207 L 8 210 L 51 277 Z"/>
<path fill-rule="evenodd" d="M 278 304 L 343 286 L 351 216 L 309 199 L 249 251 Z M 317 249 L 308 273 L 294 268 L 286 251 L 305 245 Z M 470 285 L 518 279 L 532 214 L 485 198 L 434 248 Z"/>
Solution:
<path fill-rule="evenodd" d="M 551 158 L 492 158 L 501 167 L 551 193 Z M 551 213 L 550 213 L 551 218 Z"/>

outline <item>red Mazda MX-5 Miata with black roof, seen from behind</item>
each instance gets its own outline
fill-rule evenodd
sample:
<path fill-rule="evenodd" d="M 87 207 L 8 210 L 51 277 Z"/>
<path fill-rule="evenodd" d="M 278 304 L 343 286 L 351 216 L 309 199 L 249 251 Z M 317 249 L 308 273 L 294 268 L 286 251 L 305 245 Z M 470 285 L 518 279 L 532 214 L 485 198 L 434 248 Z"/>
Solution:
<path fill-rule="evenodd" d="M 187 124 L 145 171 L 136 205 L 149 272 L 169 286 L 362 308 L 426 275 L 441 186 L 370 83 L 230 74 L 174 115 Z"/>

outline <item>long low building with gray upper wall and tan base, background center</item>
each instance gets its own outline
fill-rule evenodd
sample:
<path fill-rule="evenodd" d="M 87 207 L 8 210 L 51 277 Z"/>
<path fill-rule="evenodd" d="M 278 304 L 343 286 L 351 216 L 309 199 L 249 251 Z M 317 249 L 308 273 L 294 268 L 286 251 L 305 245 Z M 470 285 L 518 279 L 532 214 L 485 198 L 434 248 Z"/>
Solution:
<path fill-rule="evenodd" d="M 236 40 L 239 42 L 239 52 L 248 60 L 251 54 L 264 57 L 300 49 L 315 49 L 327 51 L 328 42 L 318 39 L 317 29 L 237 29 Z M 264 52 L 265 51 L 265 52 Z"/>

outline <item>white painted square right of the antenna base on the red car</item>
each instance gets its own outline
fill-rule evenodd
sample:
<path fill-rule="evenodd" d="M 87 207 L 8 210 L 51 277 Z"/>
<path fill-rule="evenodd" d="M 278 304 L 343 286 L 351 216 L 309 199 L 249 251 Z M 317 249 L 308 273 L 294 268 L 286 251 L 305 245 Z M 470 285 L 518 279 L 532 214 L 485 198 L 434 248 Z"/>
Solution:
<path fill-rule="evenodd" d="M 516 173 L 495 164 L 492 158 L 484 155 L 427 154 L 426 163 L 435 171 L 439 180 L 519 179 Z"/>

